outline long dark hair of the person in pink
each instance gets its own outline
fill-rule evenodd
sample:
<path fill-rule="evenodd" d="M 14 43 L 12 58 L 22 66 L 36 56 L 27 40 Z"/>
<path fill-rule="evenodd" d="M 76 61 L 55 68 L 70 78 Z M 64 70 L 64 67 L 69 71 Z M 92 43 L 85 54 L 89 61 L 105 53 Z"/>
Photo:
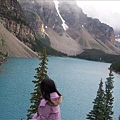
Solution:
<path fill-rule="evenodd" d="M 56 88 L 54 81 L 50 78 L 45 78 L 42 80 L 40 84 L 40 89 L 41 89 L 43 98 L 45 100 L 48 100 L 49 102 L 51 102 L 50 93 L 56 92 L 59 96 L 61 96 L 61 94 L 58 92 Z"/>

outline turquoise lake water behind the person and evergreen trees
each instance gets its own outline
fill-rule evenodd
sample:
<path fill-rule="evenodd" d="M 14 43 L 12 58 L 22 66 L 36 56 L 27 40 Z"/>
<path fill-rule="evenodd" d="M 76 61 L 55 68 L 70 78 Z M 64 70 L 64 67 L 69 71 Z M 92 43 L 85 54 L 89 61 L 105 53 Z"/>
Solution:
<path fill-rule="evenodd" d="M 62 120 L 86 120 L 100 80 L 106 81 L 109 63 L 48 57 L 48 75 L 63 95 Z M 0 120 L 26 119 L 33 92 L 36 58 L 9 58 L 0 72 Z M 120 115 L 120 75 L 114 73 L 114 120 Z"/>

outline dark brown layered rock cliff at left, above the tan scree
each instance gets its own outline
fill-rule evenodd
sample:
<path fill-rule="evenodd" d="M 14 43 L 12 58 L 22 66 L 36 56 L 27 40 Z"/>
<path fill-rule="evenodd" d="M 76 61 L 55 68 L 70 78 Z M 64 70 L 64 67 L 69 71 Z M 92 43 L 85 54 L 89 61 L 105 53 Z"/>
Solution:
<path fill-rule="evenodd" d="M 4 27 L 31 49 L 35 41 L 33 30 L 17 0 L 0 1 L 0 22 Z"/>

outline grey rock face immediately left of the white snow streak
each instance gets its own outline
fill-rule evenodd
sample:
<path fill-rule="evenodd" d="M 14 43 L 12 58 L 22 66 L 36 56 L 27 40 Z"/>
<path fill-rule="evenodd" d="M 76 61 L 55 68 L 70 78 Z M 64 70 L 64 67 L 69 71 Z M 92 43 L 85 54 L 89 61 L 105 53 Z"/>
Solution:
<path fill-rule="evenodd" d="M 36 13 L 40 17 L 45 28 L 50 27 L 57 33 L 63 34 L 62 21 L 58 16 L 53 1 L 34 0 L 34 2 L 28 2 L 19 0 L 19 2 L 24 11 L 27 10 Z M 28 14 L 26 14 L 26 16 L 28 17 Z"/>

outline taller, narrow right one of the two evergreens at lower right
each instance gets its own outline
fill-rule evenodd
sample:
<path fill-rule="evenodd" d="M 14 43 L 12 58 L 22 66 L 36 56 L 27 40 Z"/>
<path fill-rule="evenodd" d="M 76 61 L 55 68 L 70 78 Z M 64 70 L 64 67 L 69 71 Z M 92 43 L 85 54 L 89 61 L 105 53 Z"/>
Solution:
<path fill-rule="evenodd" d="M 105 119 L 104 120 L 112 120 L 113 115 L 113 100 L 114 97 L 112 96 L 113 93 L 113 74 L 112 70 L 110 70 L 109 77 L 106 78 L 107 81 L 105 82 Z"/>

